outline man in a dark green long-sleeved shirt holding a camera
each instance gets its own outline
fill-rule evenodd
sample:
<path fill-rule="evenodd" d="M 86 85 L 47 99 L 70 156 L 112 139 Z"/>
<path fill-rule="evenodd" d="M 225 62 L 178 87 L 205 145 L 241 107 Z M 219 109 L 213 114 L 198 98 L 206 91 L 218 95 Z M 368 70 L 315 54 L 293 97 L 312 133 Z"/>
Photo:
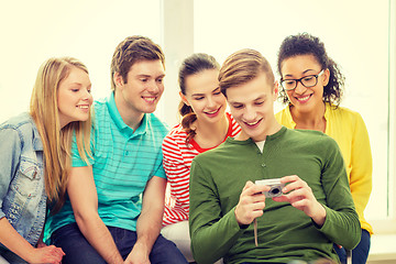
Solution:
<path fill-rule="evenodd" d="M 323 81 L 324 76 L 318 78 Z M 258 52 L 229 56 L 219 80 L 242 132 L 193 160 L 195 260 L 338 261 L 333 243 L 353 249 L 361 229 L 337 143 L 321 132 L 288 130 L 276 122 L 278 88 Z M 263 193 L 271 187 L 255 185 L 262 179 L 279 180 L 283 195 L 266 198 Z"/>

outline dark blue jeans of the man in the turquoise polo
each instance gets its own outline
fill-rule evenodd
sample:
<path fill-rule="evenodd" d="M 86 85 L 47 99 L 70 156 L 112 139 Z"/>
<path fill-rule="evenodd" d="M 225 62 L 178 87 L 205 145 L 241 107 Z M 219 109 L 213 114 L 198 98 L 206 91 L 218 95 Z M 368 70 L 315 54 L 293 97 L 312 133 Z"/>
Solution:
<path fill-rule="evenodd" d="M 122 258 L 125 260 L 136 242 L 136 232 L 114 227 L 108 227 L 108 229 Z M 52 234 L 51 241 L 66 253 L 62 264 L 106 264 L 105 260 L 80 232 L 77 223 L 59 228 Z M 152 264 L 188 263 L 176 245 L 161 234 L 155 241 L 148 257 Z"/>

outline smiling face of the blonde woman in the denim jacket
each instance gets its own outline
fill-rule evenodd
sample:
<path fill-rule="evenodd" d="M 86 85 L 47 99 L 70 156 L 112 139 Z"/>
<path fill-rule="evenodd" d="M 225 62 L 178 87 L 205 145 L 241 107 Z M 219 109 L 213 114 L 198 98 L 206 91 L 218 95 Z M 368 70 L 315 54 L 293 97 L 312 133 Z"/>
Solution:
<path fill-rule="evenodd" d="M 68 76 L 59 82 L 57 106 L 61 128 L 69 122 L 86 121 L 92 105 L 91 82 L 86 72 L 72 66 Z"/>

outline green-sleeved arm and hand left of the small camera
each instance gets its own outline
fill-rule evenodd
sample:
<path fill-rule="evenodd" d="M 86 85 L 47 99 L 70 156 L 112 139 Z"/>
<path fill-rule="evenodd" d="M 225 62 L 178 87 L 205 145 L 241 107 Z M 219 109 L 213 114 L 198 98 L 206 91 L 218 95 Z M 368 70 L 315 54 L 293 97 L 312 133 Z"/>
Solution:
<path fill-rule="evenodd" d="M 209 174 L 193 161 L 189 228 L 193 255 L 198 263 L 215 263 L 230 251 L 246 226 L 263 215 L 265 196 L 255 194 L 268 190 L 267 186 L 248 182 L 237 207 L 222 216 Z"/>

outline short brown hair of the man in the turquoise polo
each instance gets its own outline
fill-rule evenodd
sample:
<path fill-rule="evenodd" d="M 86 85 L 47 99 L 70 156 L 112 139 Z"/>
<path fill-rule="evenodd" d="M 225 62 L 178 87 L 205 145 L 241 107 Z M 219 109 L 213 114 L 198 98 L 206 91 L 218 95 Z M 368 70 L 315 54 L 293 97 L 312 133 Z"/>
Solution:
<path fill-rule="evenodd" d="M 111 90 L 116 89 L 114 74 L 119 73 L 124 82 L 132 65 L 141 61 L 160 59 L 165 68 L 165 55 L 160 45 L 145 36 L 128 36 L 114 51 L 111 59 Z"/>

